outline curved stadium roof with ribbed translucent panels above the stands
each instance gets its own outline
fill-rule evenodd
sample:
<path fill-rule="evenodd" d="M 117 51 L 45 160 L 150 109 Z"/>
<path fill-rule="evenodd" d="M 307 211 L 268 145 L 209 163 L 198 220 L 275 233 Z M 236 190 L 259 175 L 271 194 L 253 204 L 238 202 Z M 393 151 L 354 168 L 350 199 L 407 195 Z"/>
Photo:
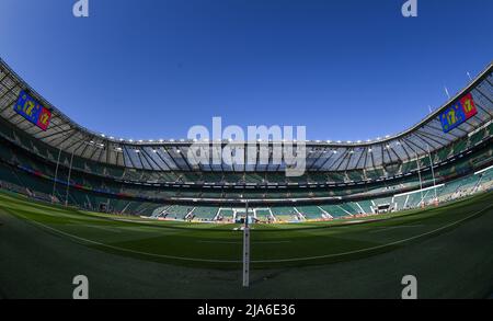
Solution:
<path fill-rule="evenodd" d="M 493 64 L 475 77 L 463 90 L 451 98 L 442 107 L 431 113 L 426 118 L 411 128 L 372 141 L 306 141 L 307 169 L 309 171 L 346 171 L 355 169 L 379 168 L 402 163 L 422 157 L 431 151 L 446 147 L 461 137 L 491 123 L 493 117 Z M 19 93 L 26 90 L 45 107 L 51 110 L 51 122 L 46 131 L 34 126 L 19 115 L 13 106 Z M 478 114 L 465 124 L 445 134 L 442 129 L 439 114 L 452 105 L 458 99 L 471 93 Z M 282 141 L 257 142 L 256 154 L 246 154 L 249 159 L 256 159 L 254 164 L 226 163 L 209 165 L 193 165 L 186 154 L 192 140 L 123 140 L 94 133 L 78 125 L 60 110 L 53 106 L 41 94 L 36 93 L 22 80 L 3 60 L 0 59 L 0 116 L 9 121 L 27 135 L 54 147 L 61 148 L 67 153 L 111 165 L 154 170 L 154 171 L 282 171 L 286 164 L 276 164 L 270 154 L 268 164 L 261 163 L 259 150 L 268 145 L 282 145 Z M 218 151 L 229 141 L 210 145 L 210 154 Z M 243 145 L 243 142 L 238 142 Z M 295 142 L 296 145 L 296 142 Z M 214 149 L 214 150 L 213 150 Z M 272 153 L 272 151 L 271 151 Z"/>

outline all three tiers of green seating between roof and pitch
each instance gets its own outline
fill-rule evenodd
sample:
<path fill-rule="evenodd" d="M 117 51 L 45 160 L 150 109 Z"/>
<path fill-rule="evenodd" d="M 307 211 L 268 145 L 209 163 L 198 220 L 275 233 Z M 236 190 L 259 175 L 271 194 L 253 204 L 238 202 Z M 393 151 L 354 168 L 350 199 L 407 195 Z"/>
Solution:
<path fill-rule="evenodd" d="M 26 147 L 32 150 L 32 152 L 25 151 L 23 148 L 13 148 L 10 142 L 7 142 L 4 138 L 0 141 L 0 159 L 3 161 L 0 164 L 0 180 L 12 184 L 12 186 L 19 186 L 18 190 L 30 190 L 32 195 L 37 195 L 38 198 L 47 200 L 47 198 L 53 193 L 55 176 L 55 163 L 49 161 L 44 161 L 51 159 L 56 161 L 58 157 L 58 149 L 48 147 L 42 141 L 33 140 L 32 137 L 25 135 L 22 131 L 12 129 L 10 124 L 5 124 L 4 121 L 0 119 L 0 136 L 8 137 L 10 140 L 15 140 L 20 146 Z M 454 154 L 466 151 L 466 149 L 474 146 L 484 138 L 489 138 L 489 135 L 493 134 L 493 124 L 484 130 L 474 133 L 469 138 L 461 138 L 455 141 L 451 146 L 446 147 L 437 152 L 434 152 L 433 159 L 435 162 L 446 160 Z M 452 164 L 447 164 L 442 168 L 437 168 L 435 174 L 437 181 L 442 182 L 444 177 L 451 179 L 458 175 L 471 174 L 477 169 L 484 168 L 489 165 L 492 161 L 493 148 L 482 147 L 481 151 L 474 151 L 471 156 L 466 156 L 461 159 L 456 160 Z M 41 156 L 41 158 L 39 158 Z M 62 181 L 57 183 L 55 188 L 55 194 L 62 200 L 66 197 L 66 185 L 68 179 L 68 167 L 70 164 L 70 154 L 61 153 L 60 168 L 57 173 L 57 179 Z M 10 163 L 11 167 L 7 165 Z M 22 165 L 15 169 L 14 164 Z M 171 202 L 171 197 L 183 197 L 199 199 L 203 197 L 207 198 L 254 198 L 254 199 L 273 199 L 273 198 L 308 198 L 308 197 L 326 197 L 326 196 L 347 196 L 347 195 L 359 195 L 362 198 L 378 197 L 378 199 L 371 200 L 359 200 L 356 203 L 342 203 L 337 205 L 324 205 L 323 210 L 326 210 L 330 215 L 334 217 L 343 217 L 348 215 L 356 215 L 362 211 L 371 213 L 371 207 L 378 204 L 390 204 L 392 197 L 388 195 L 399 194 L 408 192 L 405 188 L 417 188 L 420 183 L 417 181 L 417 175 L 413 174 L 402 179 L 395 179 L 392 181 L 379 181 L 375 182 L 377 179 L 385 176 L 386 170 L 369 169 L 365 171 L 340 171 L 340 172 L 308 172 L 300 177 L 286 177 L 284 172 L 259 172 L 259 173 L 228 173 L 228 172 L 157 172 L 150 170 L 130 170 L 118 167 L 102 165 L 98 162 L 92 162 L 87 159 L 74 158 L 73 159 L 73 170 L 71 172 L 70 182 L 72 184 L 82 185 L 81 186 L 70 186 L 69 188 L 69 203 L 84 208 L 98 209 L 100 204 L 107 204 L 110 210 L 124 214 L 148 214 L 152 215 L 156 208 L 162 207 L 162 204 L 154 204 L 152 202 L 168 203 Z M 428 167 L 429 159 L 427 156 L 420 160 L 420 168 Z M 21 170 L 21 168 L 27 171 Z M 417 163 L 415 160 L 403 163 L 400 171 L 408 173 L 415 171 Z M 49 177 L 42 177 L 44 175 L 30 174 L 28 169 L 38 171 L 44 175 Z M 390 172 L 390 171 L 389 171 Z M 394 171 L 392 171 L 394 173 Z M 489 184 L 491 181 L 491 173 L 483 175 L 482 184 Z M 424 185 L 429 186 L 428 183 L 432 182 L 432 173 L 429 170 L 423 172 L 422 176 Z M 209 182 L 216 183 L 217 188 L 206 188 L 199 186 L 190 187 L 175 187 L 175 186 L 150 186 L 150 185 L 138 185 L 129 183 L 119 183 L 113 177 L 124 177 L 128 181 L 139 181 L 139 182 L 151 182 L 151 183 L 187 183 L 187 182 Z M 286 183 L 307 183 L 307 182 L 319 182 L 319 183 L 343 183 L 355 181 L 359 182 L 366 177 L 372 179 L 372 182 L 367 182 L 362 185 L 354 185 L 347 187 L 335 186 L 335 187 L 317 187 L 317 188 L 300 188 L 295 185 L 288 186 L 268 186 L 273 188 L 261 188 L 267 187 L 263 186 L 265 182 L 278 183 L 284 185 Z M 446 183 L 445 187 L 438 188 L 437 193 L 442 199 L 448 199 L 449 197 L 458 197 L 461 195 L 467 195 L 473 192 L 478 185 L 480 176 L 469 175 L 460 180 Z M 223 183 L 243 184 L 246 186 L 236 186 L 238 188 L 230 188 L 230 184 L 222 186 Z M 250 183 L 250 184 L 249 184 Z M 251 184 L 259 184 L 261 186 L 251 186 Z M 284 188 L 283 188 L 284 187 Z M 79 190 L 78 190 L 79 188 Z M 89 191 L 82 191 L 82 188 L 88 188 Z M 92 191 L 92 192 L 91 192 Z M 22 191 L 21 191 L 22 192 Z M 113 193 L 113 194 L 112 194 Z M 116 195 L 117 193 L 125 194 L 124 196 Z M 435 192 L 433 190 L 424 192 L 425 202 L 429 202 L 434 198 Z M 385 197 L 381 197 L 385 196 Z M 148 197 L 152 197 L 148 198 Z M 183 199 L 185 200 L 185 199 Z M 188 199 L 187 199 L 188 200 Z M 408 196 L 395 197 L 393 200 L 398 204 L 398 208 L 405 207 L 405 205 L 417 206 L 421 203 L 421 192 L 414 193 Z M 409 204 L 405 204 L 409 203 Z M 268 203 L 266 203 L 268 204 Z M 286 203 L 287 206 L 274 207 L 273 211 L 278 218 L 283 220 L 290 220 L 298 217 L 297 209 L 308 219 L 317 219 L 322 217 L 324 214 L 322 209 L 317 206 L 297 206 L 296 208 L 290 206 L 295 203 Z M 299 200 L 298 204 L 301 204 Z M 268 205 L 265 205 L 268 206 Z M 187 214 L 190 214 L 195 207 L 194 206 L 171 206 L 167 207 L 167 213 L 169 217 L 176 217 L 183 219 Z M 210 219 L 214 210 L 218 209 L 216 207 L 197 207 L 192 213 L 197 218 Z M 223 208 L 221 213 L 228 214 L 232 217 L 232 209 Z M 260 210 L 257 214 L 270 216 L 268 210 Z M 215 214 L 214 214 L 215 215 Z"/>

